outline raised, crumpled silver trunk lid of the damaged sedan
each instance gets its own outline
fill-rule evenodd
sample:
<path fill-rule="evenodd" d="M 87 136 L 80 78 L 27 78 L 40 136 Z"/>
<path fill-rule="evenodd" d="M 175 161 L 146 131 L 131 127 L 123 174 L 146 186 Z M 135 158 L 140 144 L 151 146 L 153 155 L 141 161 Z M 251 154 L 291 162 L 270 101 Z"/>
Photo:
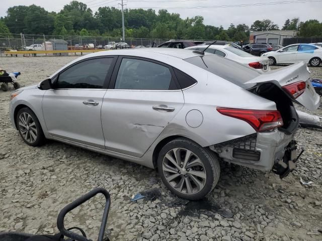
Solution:
<path fill-rule="evenodd" d="M 309 78 L 310 73 L 306 64 L 304 62 L 300 62 L 284 67 L 282 69 L 277 69 L 261 74 L 256 78 L 246 82 L 245 84 L 262 84 L 272 82 L 279 88 L 281 88 L 292 101 L 303 105 L 309 110 L 315 110 L 319 106 L 320 97 L 314 91 Z M 282 87 L 299 81 L 305 82 L 305 91 L 295 99 Z"/>

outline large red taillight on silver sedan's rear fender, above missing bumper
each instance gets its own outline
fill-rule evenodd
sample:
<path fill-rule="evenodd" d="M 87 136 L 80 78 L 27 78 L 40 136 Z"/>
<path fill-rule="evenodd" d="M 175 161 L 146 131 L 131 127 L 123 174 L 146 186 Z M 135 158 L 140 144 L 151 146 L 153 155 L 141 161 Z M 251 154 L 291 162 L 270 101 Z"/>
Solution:
<path fill-rule="evenodd" d="M 250 124 L 257 132 L 283 126 L 283 119 L 278 110 L 235 109 L 217 107 L 219 113 L 241 119 Z"/>

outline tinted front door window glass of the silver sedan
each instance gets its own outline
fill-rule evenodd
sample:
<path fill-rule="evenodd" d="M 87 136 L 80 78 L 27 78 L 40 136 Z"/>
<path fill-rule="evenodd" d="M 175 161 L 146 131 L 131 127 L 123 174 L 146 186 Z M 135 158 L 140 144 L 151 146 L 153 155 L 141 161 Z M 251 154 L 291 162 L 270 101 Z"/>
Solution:
<path fill-rule="evenodd" d="M 113 58 L 90 59 L 77 63 L 58 76 L 55 88 L 101 89 Z"/>

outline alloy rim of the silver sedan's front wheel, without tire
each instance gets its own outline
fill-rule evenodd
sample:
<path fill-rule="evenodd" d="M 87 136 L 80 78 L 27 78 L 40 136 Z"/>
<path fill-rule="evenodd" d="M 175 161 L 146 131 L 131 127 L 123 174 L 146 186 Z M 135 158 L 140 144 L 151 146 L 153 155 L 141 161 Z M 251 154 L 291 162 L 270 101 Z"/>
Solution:
<path fill-rule="evenodd" d="M 33 117 L 26 112 L 22 112 L 18 119 L 19 130 L 21 136 L 29 143 L 34 143 L 37 140 L 37 127 Z"/>

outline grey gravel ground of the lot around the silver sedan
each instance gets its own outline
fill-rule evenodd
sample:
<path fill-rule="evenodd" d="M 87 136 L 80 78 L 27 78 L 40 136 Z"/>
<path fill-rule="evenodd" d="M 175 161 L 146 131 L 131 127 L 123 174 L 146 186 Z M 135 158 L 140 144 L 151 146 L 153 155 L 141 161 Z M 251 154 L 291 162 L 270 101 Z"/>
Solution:
<path fill-rule="evenodd" d="M 3 57 L 0 67 L 21 71 L 18 80 L 25 86 L 74 58 Z M 312 77 L 322 78 L 322 67 L 310 69 Z M 198 207 L 187 212 L 184 206 L 167 205 L 173 197 L 154 170 L 54 141 L 40 148 L 24 144 L 9 119 L 13 91 L 0 91 L 0 231 L 55 233 L 59 210 L 100 186 L 112 197 L 108 220 L 112 240 L 322 240 L 319 130 L 297 132 L 306 152 L 287 178 L 222 163 L 219 183 L 207 197 L 215 205 L 213 212 Z M 322 116 L 322 109 L 313 113 Z M 302 185 L 300 177 L 313 184 Z M 133 194 L 151 188 L 160 189 L 162 200 L 129 201 Z M 96 197 L 67 215 L 66 225 L 83 227 L 96 239 L 102 205 L 103 197 Z M 233 217 L 214 215 L 218 208 L 231 211 Z"/>

